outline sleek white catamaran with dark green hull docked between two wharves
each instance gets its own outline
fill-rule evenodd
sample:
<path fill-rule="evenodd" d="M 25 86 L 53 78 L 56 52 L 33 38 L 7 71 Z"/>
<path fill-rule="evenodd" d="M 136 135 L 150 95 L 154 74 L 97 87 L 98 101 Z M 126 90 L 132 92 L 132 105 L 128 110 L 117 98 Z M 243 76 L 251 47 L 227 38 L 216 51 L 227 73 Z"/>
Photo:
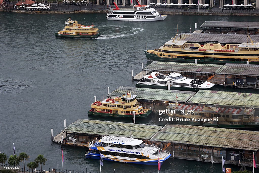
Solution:
<path fill-rule="evenodd" d="M 159 72 L 152 72 L 150 75 L 145 75 L 143 79 L 136 84 L 136 86 L 144 88 L 167 89 L 167 82 L 170 83 L 170 89 L 181 90 L 210 89 L 215 85 L 204 80 L 188 79 L 180 73 L 172 72 L 166 76 Z"/>

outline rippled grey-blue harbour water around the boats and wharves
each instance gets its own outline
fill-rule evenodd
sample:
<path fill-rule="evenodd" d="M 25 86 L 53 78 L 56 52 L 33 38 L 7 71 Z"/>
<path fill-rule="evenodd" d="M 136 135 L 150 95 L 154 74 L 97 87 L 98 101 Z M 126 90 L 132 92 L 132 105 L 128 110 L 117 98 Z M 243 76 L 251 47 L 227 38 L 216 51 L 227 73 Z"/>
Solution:
<path fill-rule="evenodd" d="M 64 28 L 71 17 L 81 24 L 92 22 L 102 32 L 98 39 L 60 39 L 54 32 Z M 204 21 L 258 21 L 259 17 L 168 16 L 159 22 L 107 21 L 105 14 L 30 15 L 0 13 L 0 151 L 9 157 L 26 152 L 31 162 L 38 154 L 47 158 L 44 170 L 61 168 L 61 148 L 51 143 L 70 124 L 88 119 L 90 104 L 131 81 L 148 64 L 144 50 L 155 49 L 177 31 L 194 30 Z M 220 89 L 220 88 L 219 88 Z M 234 90 L 233 90 L 234 91 Z M 91 118 L 96 119 L 96 118 Z M 121 121 L 99 119 L 107 121 Z M 124 122 L 130 122 L 123 120 Z M 157 115 L 137 123 L 159 124 Z M 134 135 L 134 134 L 133 134 Z M 64 169 L 99 172 L 99 161 L 84 158 L 85 149 L 64 148 Z M 237 170 L 237 167 L 226 166 Z M 102 172 L 156 172 L 157 167 L 104 162 Z M 251 169 L 251 168 L 250 168 Z M 221 172 L 221 164 L 171 159 L 160 172 Z"/>

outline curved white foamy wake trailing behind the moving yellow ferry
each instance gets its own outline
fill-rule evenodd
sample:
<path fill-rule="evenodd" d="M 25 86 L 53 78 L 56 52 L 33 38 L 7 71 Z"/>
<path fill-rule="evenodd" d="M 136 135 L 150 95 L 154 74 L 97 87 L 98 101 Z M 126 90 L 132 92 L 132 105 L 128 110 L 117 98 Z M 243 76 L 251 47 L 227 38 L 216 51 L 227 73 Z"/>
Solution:
<path fill-rule="evenodd" d="M 120 38 L 132 36 L 134 34 L 138 34 L 142 31 L 145 31 L 143 28 L 134 28 L 131 26 L 111 26 L 104 25 L 103 27 L 99 27 L 102 35 L 96 39 L 112 39 L 112 38 Z M 105 31 L 105 32 L 102 32 Z"/>

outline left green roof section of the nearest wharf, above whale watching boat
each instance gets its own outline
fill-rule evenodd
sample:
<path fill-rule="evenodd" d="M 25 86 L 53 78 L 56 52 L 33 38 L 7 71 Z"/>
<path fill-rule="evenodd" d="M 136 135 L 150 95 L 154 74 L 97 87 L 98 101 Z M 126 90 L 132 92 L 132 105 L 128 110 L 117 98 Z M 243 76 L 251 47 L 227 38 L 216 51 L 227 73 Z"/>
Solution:
<path fill-rule="evenodd" d="M 124 122 L 78 119 L 62 131 L 127 137 L 130 136 L 131 130 L 133 138 L 150 139 L 162 127 L 163 126 L 148 124 L 133 124 Z"/>

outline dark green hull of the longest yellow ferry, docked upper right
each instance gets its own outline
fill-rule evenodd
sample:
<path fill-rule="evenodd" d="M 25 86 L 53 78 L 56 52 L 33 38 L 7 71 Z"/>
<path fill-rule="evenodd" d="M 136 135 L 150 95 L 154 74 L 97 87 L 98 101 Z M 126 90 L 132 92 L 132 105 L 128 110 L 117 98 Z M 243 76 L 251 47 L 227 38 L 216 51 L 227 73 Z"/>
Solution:
<path fill-rule="evenodd" d="M 156 54 L 150 53 L 145 51 L 146 57 L 148 60 L 151 61 L 164 61 L 164 62 L 178 62 L 178 63 L 195 63 L 195 57 L 191 58 L 162 58 L 157 56 Z M 246 61 L 228 61 L 228 60 L 215 60 L 212 59 L 197 59 L 197 63 L 202 64 L 226 64 L 226 63 L 239 63 L 239 64 L 246 64 Z M 259 62 L 249 62 L 249 64 L 259 64 Z"/>

